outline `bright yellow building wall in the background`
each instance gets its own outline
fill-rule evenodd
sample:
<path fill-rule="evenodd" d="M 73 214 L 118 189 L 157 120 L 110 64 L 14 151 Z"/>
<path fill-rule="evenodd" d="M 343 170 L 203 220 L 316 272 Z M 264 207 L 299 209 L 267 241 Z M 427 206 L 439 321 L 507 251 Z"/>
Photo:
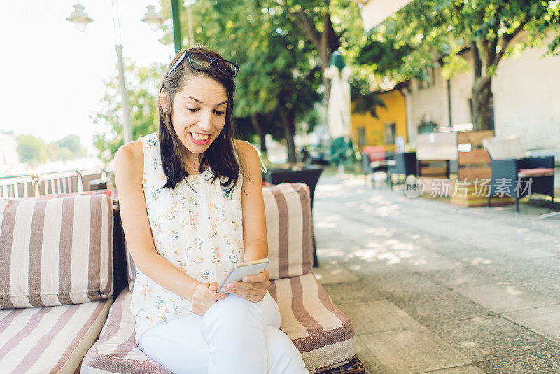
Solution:
<path fill-rule="evenodd" d="M 392 90 L 378 94 L 385 103 L 385 108 L 377 108 L 377 116 L 370 113 L 352 113 L 350 118 L 351 137 L 354 144 L 358 145 L 358 127 L 365 128 L 365 146 L 385 146 L 385 151 L 394 151 L 395 144 L 385 144 L 385 125 L 395 123 L 395 140 L 404 137 L 407 143 L 407 119 L 405 97 L 400 90 Z"/>

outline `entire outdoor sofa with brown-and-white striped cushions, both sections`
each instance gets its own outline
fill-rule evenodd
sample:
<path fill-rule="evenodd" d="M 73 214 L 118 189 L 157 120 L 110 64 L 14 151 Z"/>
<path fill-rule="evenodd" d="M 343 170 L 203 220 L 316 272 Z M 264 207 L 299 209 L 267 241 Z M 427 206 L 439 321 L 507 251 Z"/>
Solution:
<path fill-rule="evenodd" d="M 0 200 L 2 373 L 169 373 L 134 341 L 136 270 L 116 191 L 94 193 Z M 309 188 L 263 195 L 282 331 L 311 373 L 364 373 L 349 319 L 310 272 Z"/>

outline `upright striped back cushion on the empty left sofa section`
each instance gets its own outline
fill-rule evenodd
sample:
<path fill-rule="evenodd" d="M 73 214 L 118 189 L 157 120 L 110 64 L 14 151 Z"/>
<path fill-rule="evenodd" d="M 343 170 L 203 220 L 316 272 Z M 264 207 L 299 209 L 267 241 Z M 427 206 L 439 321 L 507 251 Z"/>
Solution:
<path fill-rule="evenodd" d="M 112 243 L 106 195 L 0 200 L 0 309 L 109 298 Z"/>

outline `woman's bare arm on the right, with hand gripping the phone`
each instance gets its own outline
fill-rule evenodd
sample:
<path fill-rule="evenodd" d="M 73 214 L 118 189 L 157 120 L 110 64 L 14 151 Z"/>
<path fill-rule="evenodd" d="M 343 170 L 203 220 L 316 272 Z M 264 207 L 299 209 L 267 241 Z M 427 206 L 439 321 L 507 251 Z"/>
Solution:
<path fill-rule="evenodd" d="M 244 172 L 241 189 L 241 209 L 243 211 L 243 261 L 258 260 L 268 256 L 267 225 L 265 201 L 262 198 L 262 176 L 260 158 L 256 149 L 246 141 L 236 141 L 239 159 Z M 244 282 L 232 282 L 226 288 L 233 293 L 251 301 L 260 301 L 265 297 L 270 285 L 269 274 L 264 270 L 258 275 L 244 277 Z"/>

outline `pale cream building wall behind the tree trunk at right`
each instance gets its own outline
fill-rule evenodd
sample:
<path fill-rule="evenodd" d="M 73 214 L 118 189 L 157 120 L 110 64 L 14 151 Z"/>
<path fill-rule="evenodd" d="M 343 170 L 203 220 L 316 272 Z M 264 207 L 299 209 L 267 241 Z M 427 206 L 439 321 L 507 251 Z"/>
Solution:
<path fill-rule="evenodd" d="M 520 134 L 527 149 L 560 148 L 560 56 L 542 57 L 542 48 L 526 48 L 517 56 L 504 57 L 492 80 L 496 136 Z M 461 54 L 468 72 L 451 77 L 451 121 L 471 123 L 472 52 Z M 409 142 L 415 144 L 422 120 L 449 126 L 447 81 L 435 69 L 435 85 L 423 88 L 412 80 L 405 90 Z"/>

